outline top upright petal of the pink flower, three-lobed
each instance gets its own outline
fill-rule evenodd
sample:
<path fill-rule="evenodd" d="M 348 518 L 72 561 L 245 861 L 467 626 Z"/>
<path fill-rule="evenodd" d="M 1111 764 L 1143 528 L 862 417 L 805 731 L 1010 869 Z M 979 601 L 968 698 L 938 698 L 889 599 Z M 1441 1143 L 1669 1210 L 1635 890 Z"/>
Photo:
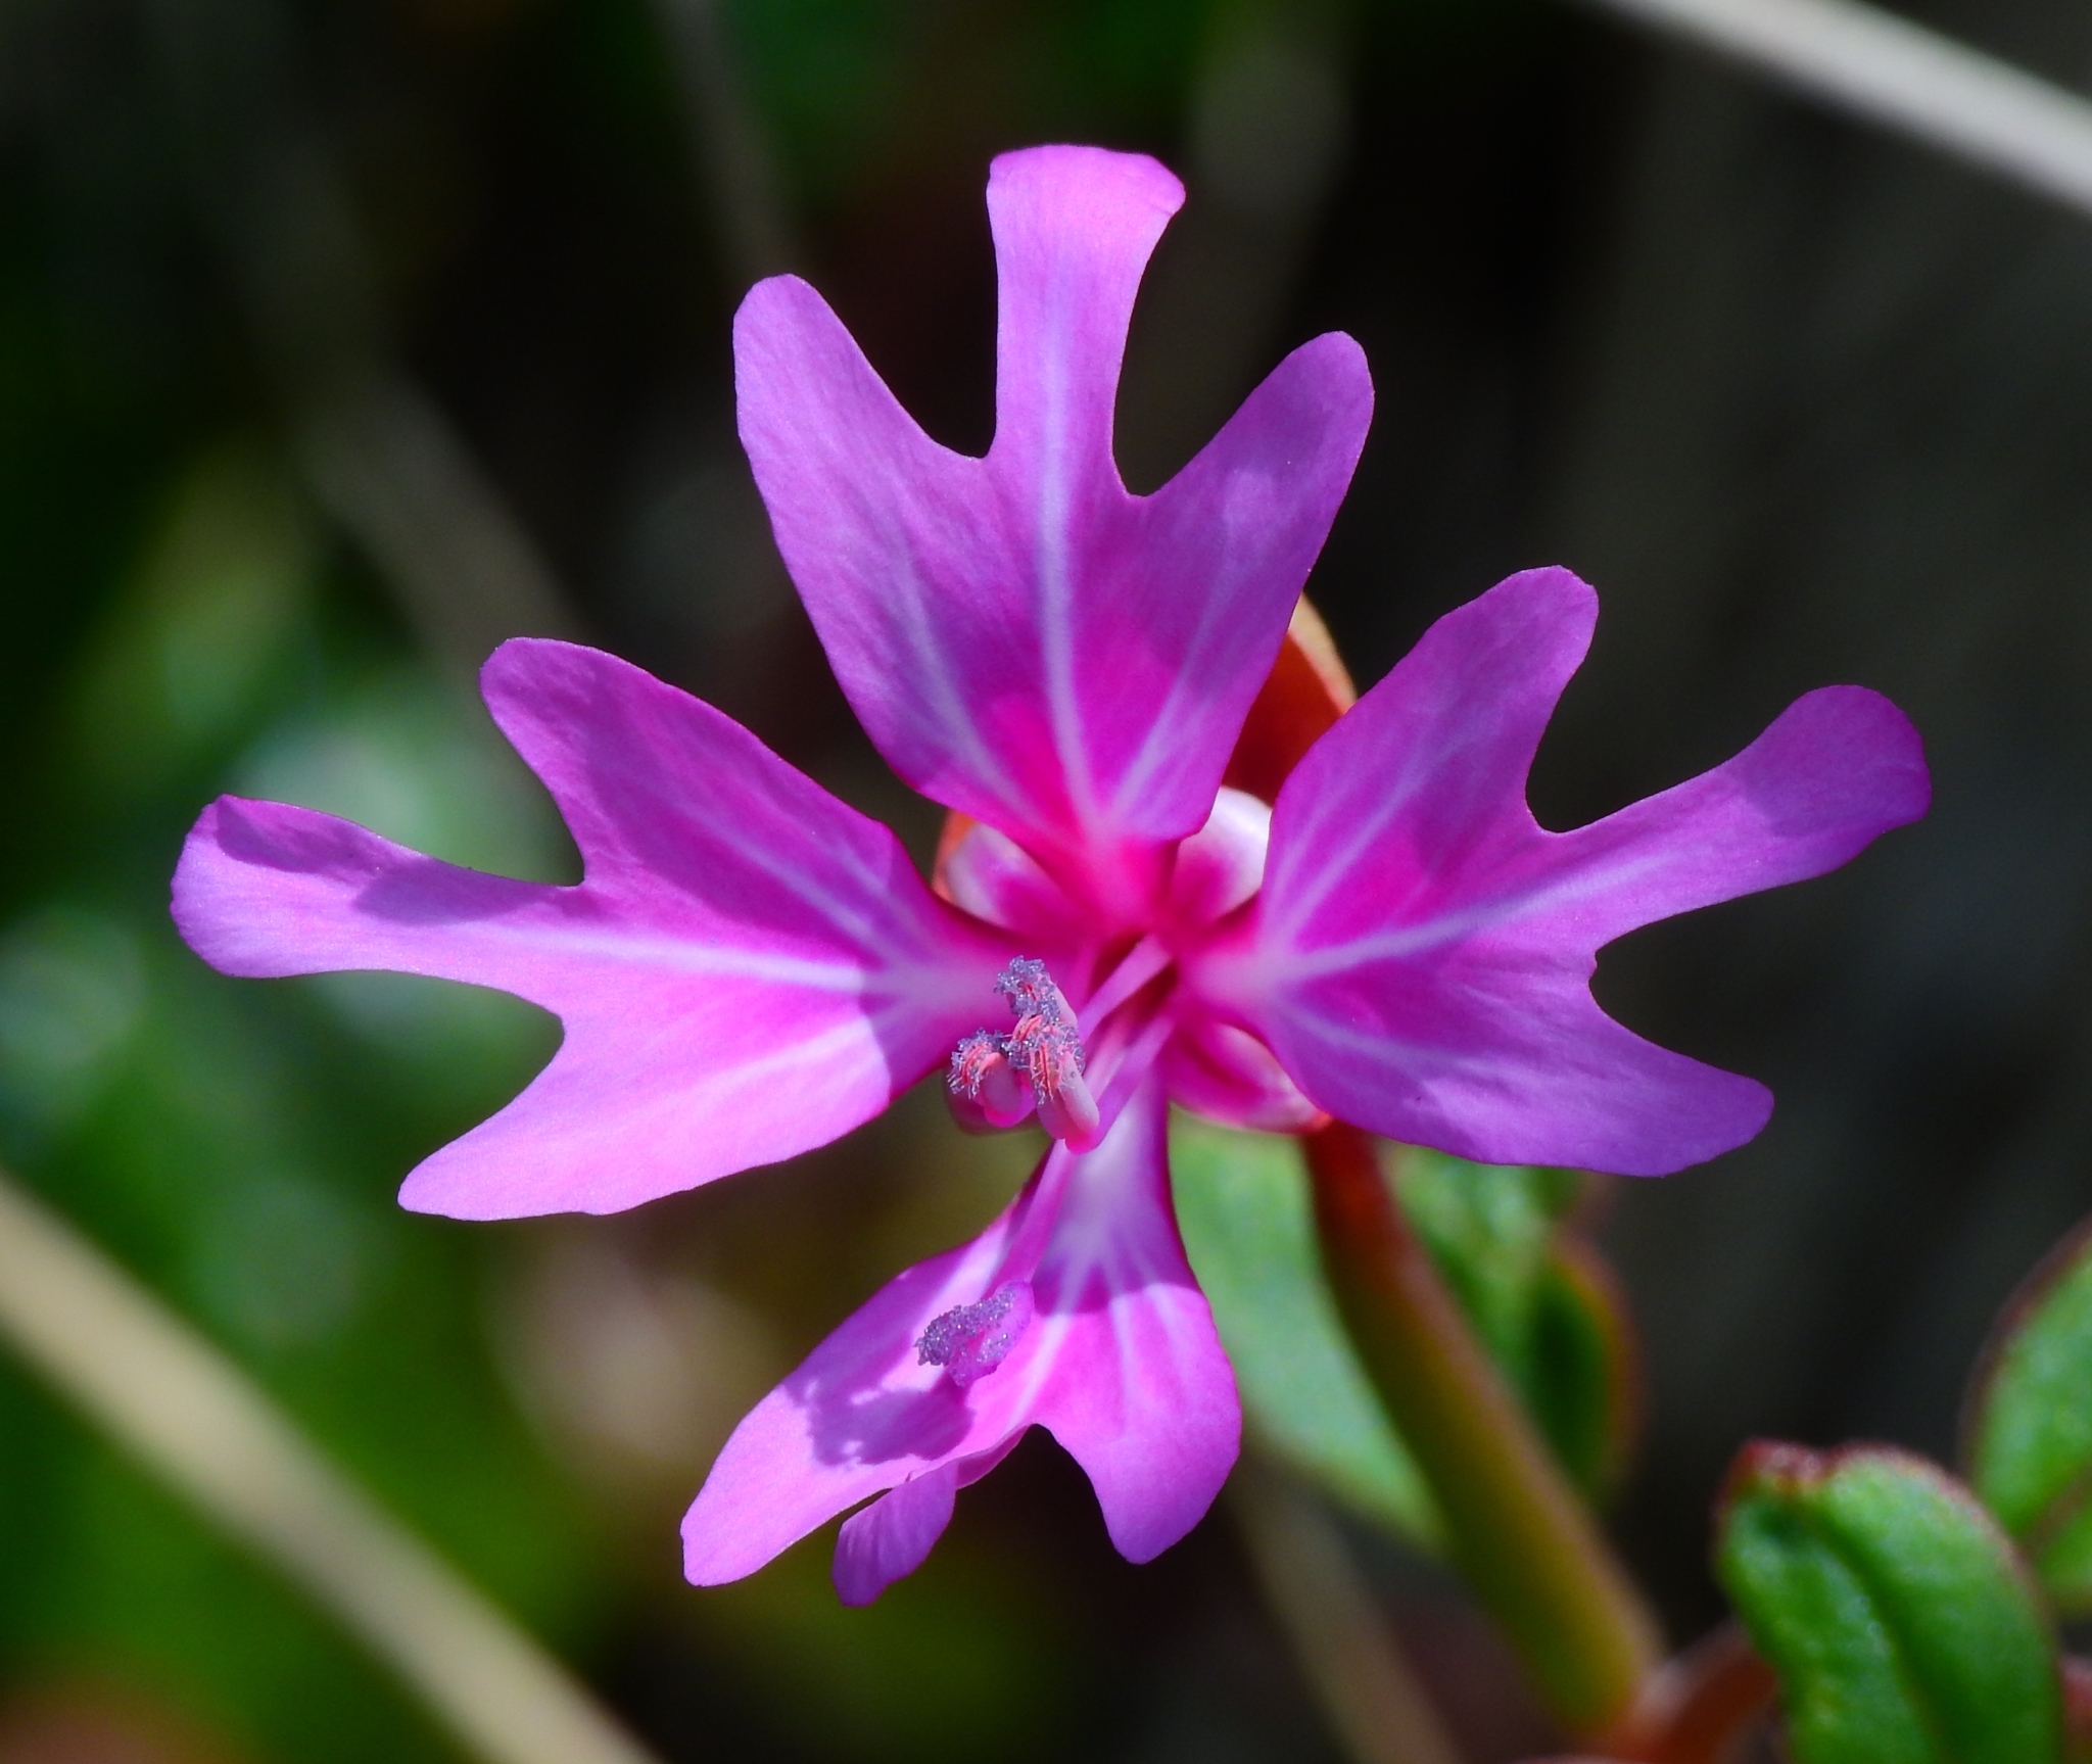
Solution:
<path fill-rule="evenodd" d="M 1048 146 L 990 180 L 996 442 L 939 448 L 803 282 L 734 324 L 741 435 L 866 730 L 935 801 L 1098 894 L 1192 833 L 1284 636 L 1372 406 L 1347 337 L 1297 349 L 1155 496 L 1111 412 L 1134 293 L 1182 190 Z"/>

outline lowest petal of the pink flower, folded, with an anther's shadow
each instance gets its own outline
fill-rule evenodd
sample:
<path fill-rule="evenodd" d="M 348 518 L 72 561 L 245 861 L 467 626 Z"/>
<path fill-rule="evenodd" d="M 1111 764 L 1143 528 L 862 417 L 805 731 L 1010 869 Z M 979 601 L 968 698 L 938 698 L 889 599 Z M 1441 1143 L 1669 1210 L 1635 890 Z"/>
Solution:
<path fill-rule="evenodd" d="M 1088 1471 L 1128 1557 L 1184 1536 L 1234 1463 L 1241 1406 L 1176 1232 L 1163 1126 L 1151 1084 L 1096 1151 L 1054 1147 L 981 1237 L 910 1268 L 822 1341 L 734 1429 L 699 1490 L 684 1519 L 690 1580 L 753 1574 L 868 1494 L 943 1467 L 964 1486 L 1033 1423 Z M 994 1373 L 960 1389 L 918 1362 L 933 1318 L 1008 1279 L 1031 1281 L 1038 1312 Z M 935 1484 L 891 1511 L 868 1507 L 839 1548 L 837 1584 L 874 1595 L 893 1563 L 929 1548 L 941 1513 Z"/>

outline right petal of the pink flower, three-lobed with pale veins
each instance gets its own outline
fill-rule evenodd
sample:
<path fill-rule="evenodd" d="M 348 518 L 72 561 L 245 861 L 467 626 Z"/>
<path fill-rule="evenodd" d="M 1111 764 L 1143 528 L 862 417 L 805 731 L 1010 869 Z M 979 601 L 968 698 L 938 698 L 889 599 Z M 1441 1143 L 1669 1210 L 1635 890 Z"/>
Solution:
<path fill-rule="evenodd" d="M 1655 1176 L 1751 1138 L 1772 1099 L 1605 1017 L 1596 950 L 1843 864 L 1923 816 L 1929 783 L 1902 711 L 1833 686 L 1726 766 L 1546 833 L 1525 770 L 1594 605 L 1542 569 L 1439 619 L 1287 781 L 1264 894 L 1190 986 L 1343 1120 Z"/>

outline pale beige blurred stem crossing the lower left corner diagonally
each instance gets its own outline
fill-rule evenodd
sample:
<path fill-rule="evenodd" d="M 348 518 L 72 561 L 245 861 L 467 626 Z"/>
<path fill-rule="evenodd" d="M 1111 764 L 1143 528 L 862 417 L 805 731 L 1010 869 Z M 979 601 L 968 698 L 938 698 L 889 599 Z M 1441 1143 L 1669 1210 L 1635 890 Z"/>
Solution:
<path fill-rule="evenodd" d="M 274 1402 L 0 1174 L 0 1339 L 295 1580 L 485 1764 L 655 1764 Z"/>

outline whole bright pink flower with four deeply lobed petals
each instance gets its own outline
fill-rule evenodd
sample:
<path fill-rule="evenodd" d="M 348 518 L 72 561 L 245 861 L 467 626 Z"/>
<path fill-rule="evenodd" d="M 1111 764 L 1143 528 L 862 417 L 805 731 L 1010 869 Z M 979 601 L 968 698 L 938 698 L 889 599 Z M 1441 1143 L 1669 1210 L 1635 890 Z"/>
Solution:
<path fill-rule="evenodd" d="M 1726 766 L 1575 833 L 1525 772 L 1590 588 L 1517 575 L 1443 617 L 1274 808 L 1222 789 L 1349 481 L 1358 347 L 1320 337 L 1136 498 L 1111 412 L 1142 268 L 1182 190 L 1038 149 L 990 180 L 996 442 L 929 442 L 799 280 L 736 322 L 741 425 L 837 678 L 956 812 L 939 889 L 895 839 L 634 668 L 504 644 L 483 684 L 586 862 L 577 887 L 452 868 L 224 797 L 174 885 L 238 975 L 379 967 L 498 986 L 565 1023 L 546 1071 L 406 1180 L 456 1218 L 613 1212 L 822 1145 L 946 1067 L 977 1124 L 1038 1113 L 1038 1174 L 910 1268 L 743 1421 L 684 1523 L 697 1582 L 843 1523 L 862 1603 L 914 1569 L 1031 1425 L 1144 1561 L 1234 1461 L 1228 1360 L 1169 1201 L 1167 1103 L 1324 1111 L 1487 1161 L 1678 1170 L 1766 1090 L 1590 998 L 1598 946 L 1818 875 L 1925 812 L 1881 697 L 1812 693 Z"/>

